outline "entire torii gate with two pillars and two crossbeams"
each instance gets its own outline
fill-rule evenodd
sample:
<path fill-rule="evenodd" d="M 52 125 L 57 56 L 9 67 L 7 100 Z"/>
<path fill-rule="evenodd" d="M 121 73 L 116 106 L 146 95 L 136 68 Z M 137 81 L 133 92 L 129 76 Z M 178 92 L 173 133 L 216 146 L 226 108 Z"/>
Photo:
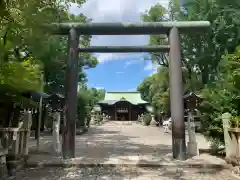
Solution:
<path fill-rule="evenodd" d="M 49 25 L 48 25 L 49 26 Z M 66 124 L 63 135 L 64 158 L 75 157 L 78 55 L 79 52 L 168 52 L 170 101 L 172 117 L 173 158 L 186 158 L 184 127 L 183 80 L 180 55 L 180 33 L 202 33 L 210 27 L 208 21 L 145 22 L 145 23 L 56 23 L 50 25 L 54 34 L 68 35 L 68 65 L 66 75 Z M 159 46 L 95 46 L 79 47 L 80 35 L 148 35 L 167 34 L 169 45 Z"/>

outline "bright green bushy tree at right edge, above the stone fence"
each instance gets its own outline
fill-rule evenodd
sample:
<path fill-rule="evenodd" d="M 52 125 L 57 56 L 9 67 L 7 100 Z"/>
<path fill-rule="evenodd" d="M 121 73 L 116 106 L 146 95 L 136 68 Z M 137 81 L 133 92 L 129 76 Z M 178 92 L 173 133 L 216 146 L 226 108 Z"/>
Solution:
<path fill-rule="evenodd" d="M 202 89 L 204 98 L 201 104 L 202 121 L 205 134 L 223 143 L 223 128 L 221 114 L 230 112 L 238 116 L 240 80 L 239 80 L 240 48 L 233 54 L 223 56 L 219 65 L 218 79 L 215 86 Z"/>

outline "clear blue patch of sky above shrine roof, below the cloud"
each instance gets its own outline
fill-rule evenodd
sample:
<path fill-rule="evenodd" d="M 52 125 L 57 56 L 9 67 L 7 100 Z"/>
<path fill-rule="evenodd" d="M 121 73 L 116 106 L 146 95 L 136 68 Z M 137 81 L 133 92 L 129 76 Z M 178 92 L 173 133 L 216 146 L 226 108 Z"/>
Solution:
<path fill-rule="evenodd" d="M 153 71 L 148 65 L 150 63 L 140 56 L 143 54 L 98 64 L 96 68 L 87 71 L 89 86 L 108 91 L 135 91 L 141 81 Z"/>

